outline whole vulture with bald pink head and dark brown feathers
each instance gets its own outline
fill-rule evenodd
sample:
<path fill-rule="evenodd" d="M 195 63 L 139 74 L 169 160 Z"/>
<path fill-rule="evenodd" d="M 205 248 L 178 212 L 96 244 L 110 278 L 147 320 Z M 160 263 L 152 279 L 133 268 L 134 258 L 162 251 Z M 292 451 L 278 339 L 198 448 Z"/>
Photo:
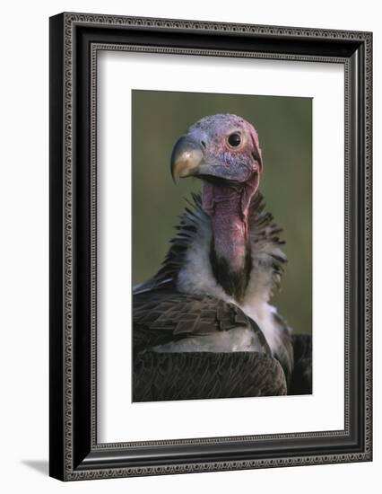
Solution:
<path fill-rule="evenodd" d="M 202 182 L 161 269 L 133 289 L 133 401 L 311 393 L 311 339 L 270 304 L 283 265 L 256 129 L 204 117 L 178 138 L 175 182 Z"/>

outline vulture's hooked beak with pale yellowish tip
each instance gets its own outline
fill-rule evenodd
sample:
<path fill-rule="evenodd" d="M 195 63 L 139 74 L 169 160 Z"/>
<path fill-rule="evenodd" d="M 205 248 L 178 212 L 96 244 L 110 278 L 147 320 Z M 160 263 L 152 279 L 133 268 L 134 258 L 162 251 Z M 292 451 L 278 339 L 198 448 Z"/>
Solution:
<path fill-rule="evenodd" d="M 195 138 L 186 135 L 178 139 L 171 154 L 171 175 L 178 183 L 179 178 L 197 175 L 199 166 L 203 163 L 203 150 Z"/>

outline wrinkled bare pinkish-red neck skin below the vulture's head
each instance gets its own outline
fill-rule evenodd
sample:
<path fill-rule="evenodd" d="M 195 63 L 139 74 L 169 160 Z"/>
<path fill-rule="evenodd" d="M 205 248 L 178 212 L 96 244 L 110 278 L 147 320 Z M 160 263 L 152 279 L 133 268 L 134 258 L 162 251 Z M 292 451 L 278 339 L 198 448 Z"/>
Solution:
<path fill-rule="evenodd" d="M 239 187 L 204 182 L 202 192 L 204 211 L 211 218 L 213 233 L 210 251 L 213 275 L 238 302 L 244 297 L 252 267 L 247 213 L 257 184 L 257 177 Z"/>

